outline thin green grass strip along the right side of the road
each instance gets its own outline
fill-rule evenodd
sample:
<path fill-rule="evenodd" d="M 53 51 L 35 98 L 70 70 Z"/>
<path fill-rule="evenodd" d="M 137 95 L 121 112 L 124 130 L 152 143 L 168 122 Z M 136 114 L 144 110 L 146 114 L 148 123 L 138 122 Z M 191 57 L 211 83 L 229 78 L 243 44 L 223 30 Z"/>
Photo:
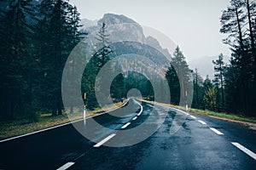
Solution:
<path fill-rule="evenodd" d="M 142 100 L 144 100 L 144 99 L 142 99 Z M 144 100 L 144 101 L 146 101 L 148 103 L 152 103 L 152 104 L 155 103 L 157 105 L 166 105 L 166 106 L 174 107 L 174 108 L 185 111 L 185 108 L 182 106 L 179 106 L 179 105 L 162 104 L 162 103 L 148 101 L 148 100 Z M 189 108 L 189 112 L 195 113 L 198 115 L 203 115 L 203 116 L 215 116 L 215 117 L 229 119 L 229 120 L 256 123 L 256 117 L 246 117 L 246 116 L 242 116 L 242 115 L 235 115 L 235 114 L 230 114 L 230 113 L 218 113 L 218 112 L 214 112 L 214 111 L 203 111 L 203 110 L 198 110 L 198 109 L 193 109 L 193 108 Z"/>

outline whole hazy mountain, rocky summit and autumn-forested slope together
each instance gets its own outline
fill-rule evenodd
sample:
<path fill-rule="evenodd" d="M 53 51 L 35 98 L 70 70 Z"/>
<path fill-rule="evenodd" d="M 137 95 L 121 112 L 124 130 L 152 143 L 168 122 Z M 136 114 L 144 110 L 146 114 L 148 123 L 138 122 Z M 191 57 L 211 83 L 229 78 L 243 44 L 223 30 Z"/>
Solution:
<path fill-rule="evenodd" d="M 85 20 L 87 23 L 91 21 Z M 110 48 L 113 49 L 111 58 L 124 56 L 119 60 L 123 71 L 132 69 L 146 73 L 148 78 L 165 77 L 170 64 L 171 54 L 160 46 L 160 42 L 152 36 L 145 36 L 143 26 L 123 14 L 104 14 L 94 26 L 85 26 L 85 31 L 96 35 L 102 25 L 106 24 L 109 33 Z M 94 42 L 96 40 L 91 39 Z M 127 68 L 128 67 L 128 68 Z"/>

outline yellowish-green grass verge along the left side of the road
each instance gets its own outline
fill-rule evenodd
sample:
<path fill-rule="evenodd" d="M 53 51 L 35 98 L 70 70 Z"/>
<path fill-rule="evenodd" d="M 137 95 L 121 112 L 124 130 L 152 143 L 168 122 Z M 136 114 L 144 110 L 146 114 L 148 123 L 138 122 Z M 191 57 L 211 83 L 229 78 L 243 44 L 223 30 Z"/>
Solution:
<path fill-rule="evenodd" d="M 126 101 L 126 100 L 125 100 Z M 124 103 L 125 103 L 124 101 Z M 87 111 L 86 116 L 94 116 L 102 113 L 103 111 L 110 111 L 124 103 L 115 103 L 103 108 L 97 108 L 95 111 Z M 33 133 L 38 130 L 42 130 L 48 127 L 54 127 L 67 122 L 73 122 L 83 118 L 83 110 L 74 109 L 73 114 L 68 114 L 63 111 L 61 116 L 51 116 L 51 114 L 41 114 L 38 122 L 29 122 L 27 119 L 15 120 L 15 121 L 2 121 L 0 122 L 0 140 L 9 139 L 15 136 L 19 136 L 26 133 Z"/>

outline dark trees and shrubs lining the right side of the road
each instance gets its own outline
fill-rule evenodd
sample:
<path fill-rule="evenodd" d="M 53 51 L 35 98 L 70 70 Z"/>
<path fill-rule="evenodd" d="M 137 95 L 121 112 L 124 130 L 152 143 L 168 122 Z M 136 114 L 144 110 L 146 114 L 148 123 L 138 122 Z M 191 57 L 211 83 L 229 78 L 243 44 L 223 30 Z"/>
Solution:
<path fill-rule="evenodd" d="M 214 80 L 199 82 L 195 71 L 193 107 L 255 116 L 256 111 L 256 2 L 230 0 L 220 18 L 220 32 L 232 52 L 213 60 Z"/>

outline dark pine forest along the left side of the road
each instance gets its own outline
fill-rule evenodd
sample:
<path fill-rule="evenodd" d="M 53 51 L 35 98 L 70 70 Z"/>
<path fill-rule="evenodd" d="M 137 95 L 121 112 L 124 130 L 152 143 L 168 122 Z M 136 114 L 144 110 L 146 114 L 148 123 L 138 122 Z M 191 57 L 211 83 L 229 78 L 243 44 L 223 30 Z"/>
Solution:
<path fill-rule="evenodd" d="M 39 3 L 6 0 L 1 4 L 0 118 L 28 118 L 37 122 L 38 114 L 42 112 L 62 115 L 62 71 L 73 48 L 88 35 L 79 29 L 78 9 L 67 0 L 42 0 Z M 94 86 L 96 75 L 112 53 L 108 36 L 107 26 L 103 23 L 96 35 L 95 54 L 82 77 L 81 94 L 87 93 L 84 104 L 90 110 L 98 106 Z M 69 64 L 75 65 L 81 56 L 76 56 Z M 123 75 L 113 81 L 111 93 L 117 101 L 124 97 L 123 81 Z M 69 83 L 72 88 L 73 82 Z M 69 97 L 73 98 L 73 95 Z M 77 105 L 69 106 L 73 113 L 73 107 Z"/>

